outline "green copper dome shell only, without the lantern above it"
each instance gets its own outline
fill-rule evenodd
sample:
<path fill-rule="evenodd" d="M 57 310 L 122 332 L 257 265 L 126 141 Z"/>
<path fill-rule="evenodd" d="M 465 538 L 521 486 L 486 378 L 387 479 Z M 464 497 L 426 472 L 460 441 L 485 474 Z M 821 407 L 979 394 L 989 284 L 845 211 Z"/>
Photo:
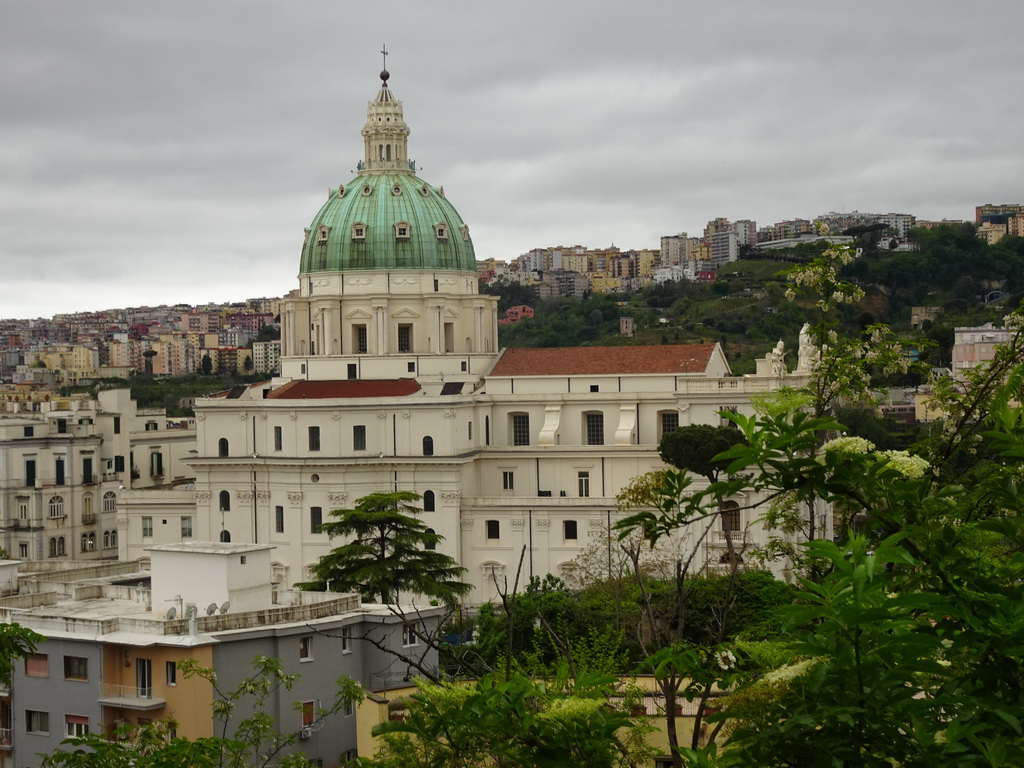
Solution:
<path fill-rule="evenodd" d="M 360 173 L 306 230 L 300 274 L 349 269 L 476 270 L 469 227 L 412 173 Z"/>

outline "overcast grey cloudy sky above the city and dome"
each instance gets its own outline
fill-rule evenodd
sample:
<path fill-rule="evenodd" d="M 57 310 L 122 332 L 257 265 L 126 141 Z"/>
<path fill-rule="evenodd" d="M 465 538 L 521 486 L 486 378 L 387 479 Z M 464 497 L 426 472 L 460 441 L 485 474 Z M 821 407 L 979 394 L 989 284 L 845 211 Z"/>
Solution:
<path fill-rule="evenodd" d="M 0 0 L 0 317 L 280 296 L 387 44 L 478 258 L 1024 202 L 1018 0 Z"/>

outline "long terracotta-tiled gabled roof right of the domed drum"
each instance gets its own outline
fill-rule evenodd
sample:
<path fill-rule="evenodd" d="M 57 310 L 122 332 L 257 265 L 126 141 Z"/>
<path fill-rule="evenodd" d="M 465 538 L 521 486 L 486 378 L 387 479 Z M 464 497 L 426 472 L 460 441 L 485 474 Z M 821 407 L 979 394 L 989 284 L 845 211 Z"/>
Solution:
<path fill-rule="evenodd" d="M 489 376 L 701 374 L 714 344 L 506 349 Z"/>

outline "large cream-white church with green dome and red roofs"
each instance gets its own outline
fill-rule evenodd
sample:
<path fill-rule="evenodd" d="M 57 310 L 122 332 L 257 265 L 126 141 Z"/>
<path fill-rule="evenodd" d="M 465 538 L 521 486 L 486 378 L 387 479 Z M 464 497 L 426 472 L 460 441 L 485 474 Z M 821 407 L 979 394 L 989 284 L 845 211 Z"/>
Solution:
<path fill-rule="evenodd" d="M 719 424 L 722 410 L 750 413 L 752 393 L 806 381 L 777 352 L 733 377 L 717 344 L 499 349 L 469 227 L 416 175 L 401 102 L 381 78 L 355 178 L 305 228 L 281 377 L 197 401 L 195 489 L 127 499 L 122 557 L 188 541 L 187 515 L 196 541 L 273 547 L 287 587 L 337 546 L 319 532 L 331 510 L 412 490 L 478 603 L 520 558 L 520 583 L 557 574 L 607 536 L 615 495 L 664 468 L 666 430 Z M 756 516 L 723 518 L 727 530 L 700 545 L 708 561 L 727 537 L 763 537 Z"/>

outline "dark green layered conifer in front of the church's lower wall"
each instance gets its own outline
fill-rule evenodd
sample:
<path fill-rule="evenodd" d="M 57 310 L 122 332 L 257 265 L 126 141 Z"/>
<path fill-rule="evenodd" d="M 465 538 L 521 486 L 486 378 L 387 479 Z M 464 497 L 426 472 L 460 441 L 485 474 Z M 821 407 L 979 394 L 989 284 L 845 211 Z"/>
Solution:
<path fill-rule="evenodd" d="M 471 586 L 460 582 L 466 571 L 452 557 L 436 551 L 443 537 L 419 519 L 408 490 L 378 493 L 355 502 L 353 509 L 331 512 L 335 520 L 321 530 L 350 541 L 324 555 L 312 566 L 316 581 L 300 584 L 308 590 L 354 590 L 368 600 L 393 603 L 400 592 L 455 602 Z"/>

